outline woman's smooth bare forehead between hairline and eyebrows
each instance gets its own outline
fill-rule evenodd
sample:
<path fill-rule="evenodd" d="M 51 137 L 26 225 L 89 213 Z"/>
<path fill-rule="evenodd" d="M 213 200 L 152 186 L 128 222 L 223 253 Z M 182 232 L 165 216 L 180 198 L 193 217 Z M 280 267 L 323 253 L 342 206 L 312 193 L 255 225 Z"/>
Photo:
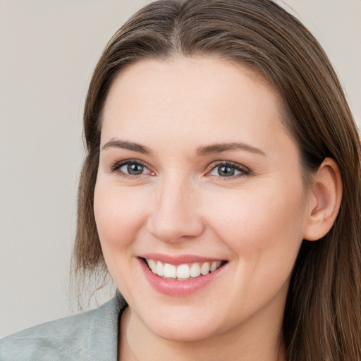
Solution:
<path fill-rule="evenodd" d="M 254 69 L 214 57 L 149 59 L 124 69 L 104 106 L 102 137 L 267 137 L 283 128 L 279 94 Z M 263 131 L 261 131 L 263 130 Z M 111 133 L 120 133 L 119 135 Z M 262 137 L 261 137 L 262 138 Z M 229 140 L 229 139 L 228 139 Z M 262 139 L 258 139 L 262 142 Z"/>

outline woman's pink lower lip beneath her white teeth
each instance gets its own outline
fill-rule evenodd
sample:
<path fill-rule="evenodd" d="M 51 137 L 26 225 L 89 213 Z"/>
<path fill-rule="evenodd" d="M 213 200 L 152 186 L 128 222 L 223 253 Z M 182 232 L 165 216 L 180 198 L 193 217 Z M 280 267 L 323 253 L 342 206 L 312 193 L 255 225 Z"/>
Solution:
<path fill-rule="evenodd" d="M 140 267 L 142 268 L 145 277 L 158 292 L 164 293 L 164 295 L 176 296 L 176 297 L 185 297 L 196 293 L 200 288 L 206 286 L 209 282 L 213 281 L 221 271 L 224 269 L 226 264 L 222 265 L 218 269 L 205 276 L 198 276 L 195 279 L 190 279 L 189 281 L 177 281 L 174 279 L 163 279 L 161 276 L 154 274 L 145 261 L 140 259 Z"/>

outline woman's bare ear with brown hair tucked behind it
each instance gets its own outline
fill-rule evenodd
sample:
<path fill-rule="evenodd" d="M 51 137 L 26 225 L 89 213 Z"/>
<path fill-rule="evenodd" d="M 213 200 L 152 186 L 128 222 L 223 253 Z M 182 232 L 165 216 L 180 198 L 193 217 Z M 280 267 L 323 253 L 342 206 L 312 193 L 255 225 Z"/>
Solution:
<path fill-rule="evenodd" d="M 326 158 L 314 176 L 303 238 L 319 240 L 331 229 L 342 199 L 342 179 L 336 161 Z"/>

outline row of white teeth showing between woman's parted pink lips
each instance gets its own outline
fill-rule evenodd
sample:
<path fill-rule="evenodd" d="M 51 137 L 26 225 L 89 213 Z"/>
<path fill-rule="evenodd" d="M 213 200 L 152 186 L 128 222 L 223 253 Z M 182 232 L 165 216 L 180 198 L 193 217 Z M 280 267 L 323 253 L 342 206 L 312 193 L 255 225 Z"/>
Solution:
<path fill-rule="evenodd" d="M 173 279 L 176 281 L 189 281 L 206 276 L 227 263 L 226 261 L 219 260 L 213 262 L 185 263 L 175 266 L 174 264 L 164 263 L 155 259 L 142 258 L 142 260 L 154 274 L 157 274 L 163 279 Z"/>

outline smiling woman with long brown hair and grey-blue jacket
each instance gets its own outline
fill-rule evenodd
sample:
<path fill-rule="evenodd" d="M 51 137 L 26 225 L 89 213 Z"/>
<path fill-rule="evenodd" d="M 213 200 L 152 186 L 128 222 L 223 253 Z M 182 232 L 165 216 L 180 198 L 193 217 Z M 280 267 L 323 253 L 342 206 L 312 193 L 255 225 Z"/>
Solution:
<path fill-rule="evenodd" d="M 360 141 L 298 20 L 150 4 L 104 50 L 84 121 L 74 267 L 121 294 L 1 360 L 361 359 Z"/>

